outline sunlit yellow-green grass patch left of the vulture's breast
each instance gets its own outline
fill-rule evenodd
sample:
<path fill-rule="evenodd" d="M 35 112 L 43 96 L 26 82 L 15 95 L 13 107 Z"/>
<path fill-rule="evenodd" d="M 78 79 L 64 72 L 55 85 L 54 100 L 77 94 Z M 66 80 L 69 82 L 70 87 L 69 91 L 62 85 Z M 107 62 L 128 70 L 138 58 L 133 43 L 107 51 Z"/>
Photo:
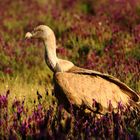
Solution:
<path fill-rule="evenodd" d="M 27 74 L 18 74 L 15 77 L 4 75 L 0 79 L 0 94 L 5 95 L 10 90 L 8 96 L 9 108 L 12 107 L 11 103 L 16 99 L 24 100 L 25 107 L 32 110 L 35 102 L 38 103 L 37 91 L 42 96 L 43 101 L 47 100 L 46 104 L 51 101 L 51 96 L 48 96 L 49 98 L 46 99 L 46 93 L 51 95 L 53 90 L 51 77 L 52 73 L 48 70 L 46 72 L 44 70 L 35 70 Z"/>

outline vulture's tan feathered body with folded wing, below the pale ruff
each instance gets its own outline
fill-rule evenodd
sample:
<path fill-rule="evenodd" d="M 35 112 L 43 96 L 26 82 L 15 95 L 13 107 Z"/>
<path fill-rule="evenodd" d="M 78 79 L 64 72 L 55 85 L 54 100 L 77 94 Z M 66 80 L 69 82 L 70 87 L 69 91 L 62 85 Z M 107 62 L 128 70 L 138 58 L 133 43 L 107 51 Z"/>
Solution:
<path fill-rule="evenodd" d="M 68 102 L 78 107 L 84 104 L 90 110 L 93 110 L 93 99 L 99 104 L 100 112 L 104 112 L 109 101 L 117 108 L 120 101 L 129 105 L 129 101 L 136 102 L 139 98 L 135 91 L 117 78 L 75 66 L 68 72 L 57 72 L 55 81 Z M 60 95 L 58 93 L 57 97 Z M 59 100 L 63 99 L 59 97 Z"/>

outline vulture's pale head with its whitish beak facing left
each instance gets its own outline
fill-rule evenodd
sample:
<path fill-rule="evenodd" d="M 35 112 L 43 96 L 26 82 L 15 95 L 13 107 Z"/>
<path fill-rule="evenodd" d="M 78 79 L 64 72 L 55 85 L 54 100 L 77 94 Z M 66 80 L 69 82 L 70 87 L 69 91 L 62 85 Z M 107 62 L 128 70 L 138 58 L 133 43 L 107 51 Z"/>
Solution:
<path fill-rule="evenodd" d="M 27 32 L 25 38 L 36 38 L 41 40 L 48 40 L 52 38 L 54 33 L 52 29 L 46 25 L 39 25 L 32 32 Z"/>

